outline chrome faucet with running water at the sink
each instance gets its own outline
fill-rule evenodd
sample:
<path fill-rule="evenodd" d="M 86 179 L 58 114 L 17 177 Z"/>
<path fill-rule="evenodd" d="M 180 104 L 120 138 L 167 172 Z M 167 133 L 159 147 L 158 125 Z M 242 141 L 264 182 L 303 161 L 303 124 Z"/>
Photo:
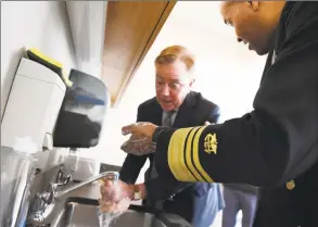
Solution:
<path fill-rule="evenodd" d="M 119 174 L 117 172 L 104 172 L 82 182 L 78 182 L 76 185 L 69 186 L 63 190 L 58 191 L 56 189 L 59 188 L 59 186 L 66 186 L 72 180 L 71 174 L 66 175 L 65 178 L 63 178 L 62 176 L 63 172 L 62 168 L 60 168 L 56 182 L 50 184 L 48 191 L 36 194 L 35 203 L 33 205 L 30 215 L 28 216 L 30 223 L 37 225 L 43 223 L 53 211 L 56 199 L 101 178 L 107 178 L 114 181 L 117 181 L 119 178 Z"/>

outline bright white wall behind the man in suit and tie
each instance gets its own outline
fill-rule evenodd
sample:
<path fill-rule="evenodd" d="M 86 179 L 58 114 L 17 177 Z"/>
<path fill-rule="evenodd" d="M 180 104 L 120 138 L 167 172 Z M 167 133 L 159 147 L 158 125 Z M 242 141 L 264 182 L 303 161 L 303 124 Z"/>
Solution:
<path fill-rule="evenodd" d="M 218 2 L 178 1 L 119 106 L 110 110 L 100 144 L 82 155 L 122 165 L 126 154 L 119 147 L 127 138 L 120 128 L 135 122 L 137 106 L 154 96 L 153 61 L 170 45 L 183 45 L 194 52 L 198 79 L 193 89 L 220 105 L 221 121 L 252 110 L 265 56 L 237 42 L 233 28 L 219 14 Z"/>

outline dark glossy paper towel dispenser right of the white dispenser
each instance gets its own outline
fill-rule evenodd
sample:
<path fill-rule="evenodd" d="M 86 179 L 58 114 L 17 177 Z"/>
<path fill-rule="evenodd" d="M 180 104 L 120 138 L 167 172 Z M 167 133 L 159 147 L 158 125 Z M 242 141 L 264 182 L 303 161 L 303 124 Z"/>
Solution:
<path fill-rule="evenodd" d="M 53 134 L 53 146 L 62 148 L 90 148 L 98 144 L 102 130 L 109 91 L 97 77 L 72 70 L 72 87 L 61 106 Z"/>

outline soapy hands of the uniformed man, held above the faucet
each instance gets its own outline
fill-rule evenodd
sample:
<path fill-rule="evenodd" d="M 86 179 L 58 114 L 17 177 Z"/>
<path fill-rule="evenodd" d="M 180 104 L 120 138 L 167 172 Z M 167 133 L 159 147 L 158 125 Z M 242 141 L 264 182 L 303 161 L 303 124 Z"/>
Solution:
<path fill-rule="evenodd" d="M 131 134 L 129 140 L 120 147 L 126 153 L 143 155 L 155 152 L 155 146 L 152 143 L 152 135 L 156 125 L 148 122 L 135 123 L 122 128 L 123 135 Z"/>

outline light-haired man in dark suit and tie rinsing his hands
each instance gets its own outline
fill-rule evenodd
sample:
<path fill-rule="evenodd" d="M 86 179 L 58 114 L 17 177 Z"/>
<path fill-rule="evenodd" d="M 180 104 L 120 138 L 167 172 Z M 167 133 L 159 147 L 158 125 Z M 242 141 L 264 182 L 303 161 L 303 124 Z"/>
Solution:
<path fill-rule="evenodd" d="M 201 93 L 190 91 L 194 81 L 193 66 L 194 59 L 186 48 L 173 46 L 164 49 L 155 60 L 156 97 L 139 105 L 137 122 L 175 128 L 217 123 L 219 108 Z M 150 167 L 145 182 L 133 185 L 148 159 Z M 217 212 L 224 207 L 219 185 L 167 185 L 165 178 L 157 177 L 154 162 L 153 154 L 128 154 L 120 171 L 122 181 L 117 184 L 122 193 L 129 194 L 132 200 L 145 198 L 143 203 L 178 214 L 195 227 L 211 226 Z"/>

